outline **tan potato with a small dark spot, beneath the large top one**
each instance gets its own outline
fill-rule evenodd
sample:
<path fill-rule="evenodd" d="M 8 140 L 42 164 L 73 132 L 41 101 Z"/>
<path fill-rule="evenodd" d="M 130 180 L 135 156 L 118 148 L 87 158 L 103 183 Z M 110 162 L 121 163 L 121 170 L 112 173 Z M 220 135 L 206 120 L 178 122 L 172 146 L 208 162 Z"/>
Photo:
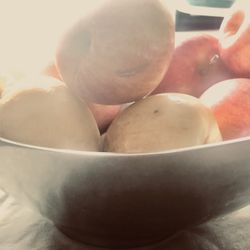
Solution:
<path fill-rule="evenodd" d="M 148 153 L 221 141 L 217 122 L 198 98 L 180 93 L 146 97 L 110 125 L 104 150 Z"/>

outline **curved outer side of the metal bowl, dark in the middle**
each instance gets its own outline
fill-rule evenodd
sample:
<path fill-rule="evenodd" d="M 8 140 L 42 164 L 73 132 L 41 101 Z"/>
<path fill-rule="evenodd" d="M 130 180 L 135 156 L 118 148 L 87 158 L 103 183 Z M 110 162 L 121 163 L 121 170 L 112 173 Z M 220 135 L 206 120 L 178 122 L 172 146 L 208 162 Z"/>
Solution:
<path fill-rule="evenodd" d="M 249 203 L 249 147 L 129 156 L 2 143 L 0 186 L 76 240 L 145 245 Z"/>

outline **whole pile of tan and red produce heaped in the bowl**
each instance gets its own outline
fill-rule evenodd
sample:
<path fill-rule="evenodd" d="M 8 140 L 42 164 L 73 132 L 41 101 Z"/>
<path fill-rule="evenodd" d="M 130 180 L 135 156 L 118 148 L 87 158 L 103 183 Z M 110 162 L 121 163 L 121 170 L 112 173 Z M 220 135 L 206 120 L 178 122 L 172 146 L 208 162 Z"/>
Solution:
<path fill-rule="evenodd" d="M 65 30 L 33 78 L 0 79 L 0 136 L 149 153 L 250 135 L 250 15 L 176 43 L 163 1 L 104 1 Z"/>

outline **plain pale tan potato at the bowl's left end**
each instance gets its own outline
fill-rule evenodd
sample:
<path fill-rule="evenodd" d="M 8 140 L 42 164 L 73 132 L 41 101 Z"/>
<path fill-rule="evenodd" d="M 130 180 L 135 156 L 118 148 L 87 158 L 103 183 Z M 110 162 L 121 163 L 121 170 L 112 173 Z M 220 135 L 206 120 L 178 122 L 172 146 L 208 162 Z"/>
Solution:
<path fill-rule="evenodd" d="M 98 151 L 100 134 L 87 105 L 52 77 L 16 83 L 3 92 L 0 136 L 61 149 Z"/>

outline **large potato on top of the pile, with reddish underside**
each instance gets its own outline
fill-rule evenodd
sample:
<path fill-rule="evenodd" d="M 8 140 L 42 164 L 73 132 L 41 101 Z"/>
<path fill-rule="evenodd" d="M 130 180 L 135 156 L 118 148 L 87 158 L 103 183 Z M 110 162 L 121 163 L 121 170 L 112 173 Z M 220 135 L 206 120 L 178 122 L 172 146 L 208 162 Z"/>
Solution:
<path fill-rule="evenodd" d="M 162 0 L 107 0 L 67 30 L 56 63 L 80 98 L 132 102 L 160 83 L 174 36 L 173 17 Z"/>

